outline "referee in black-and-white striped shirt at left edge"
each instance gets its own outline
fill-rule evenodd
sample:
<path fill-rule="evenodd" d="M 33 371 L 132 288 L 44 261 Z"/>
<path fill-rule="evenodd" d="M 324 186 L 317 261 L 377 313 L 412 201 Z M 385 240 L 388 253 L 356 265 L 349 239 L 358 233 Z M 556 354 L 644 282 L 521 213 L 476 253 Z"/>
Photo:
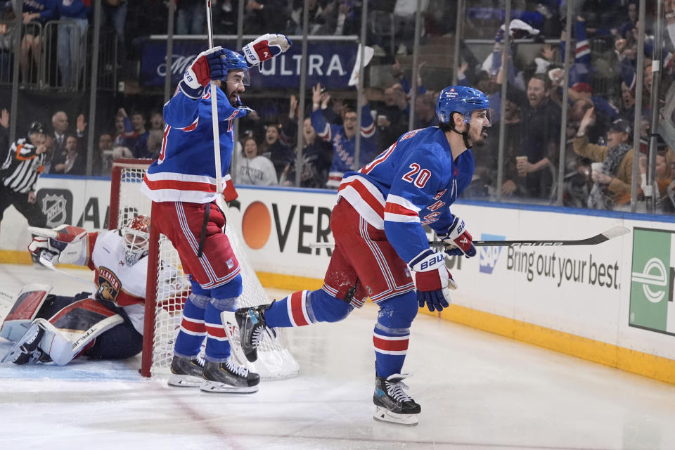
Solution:
<path fill-rule="evenodd" d="M 44 125 L 33 122 L 28 129 L 28 139 L 18 139 L 5 155 L 0 154 L 0 221 L 9 205 L 14 205 L 28 220 L 28 225 L 46 226 L 35 195 L 37 177 L 44 169 L 45 142 Z"/>

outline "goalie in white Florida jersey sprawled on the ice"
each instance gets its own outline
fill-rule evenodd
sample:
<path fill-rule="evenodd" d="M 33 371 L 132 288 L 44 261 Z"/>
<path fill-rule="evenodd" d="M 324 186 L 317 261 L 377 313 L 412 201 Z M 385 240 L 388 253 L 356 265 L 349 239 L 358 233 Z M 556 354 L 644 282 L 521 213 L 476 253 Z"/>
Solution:
<path fill-rule="evenodd" d="M 70 225 L 29 231 L 28 250 L 42 264 L 88 266 L 96 292 L 68 297 L 50 295 L 44 283 L 26 285 L 0 330 L 15 342 L 2 361 L 63 366 L 77 356 L 124 359 L 141 352 L 150 219 L 137 216 L 101 233 Z"/>

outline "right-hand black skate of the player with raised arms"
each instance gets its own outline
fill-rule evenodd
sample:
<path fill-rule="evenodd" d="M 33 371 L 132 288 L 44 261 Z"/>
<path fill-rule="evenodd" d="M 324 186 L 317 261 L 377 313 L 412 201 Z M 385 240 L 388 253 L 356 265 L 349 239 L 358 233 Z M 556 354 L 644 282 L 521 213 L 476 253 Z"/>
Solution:
<path fill-rule="evenodd" d="M 204 380 L 200 389 L 204 392 L 250 394 L 257 392 L 260 383 L 260 375 L 234 364 L 232 358 L 224 363 L 206 361 L 202 377 Z"/>

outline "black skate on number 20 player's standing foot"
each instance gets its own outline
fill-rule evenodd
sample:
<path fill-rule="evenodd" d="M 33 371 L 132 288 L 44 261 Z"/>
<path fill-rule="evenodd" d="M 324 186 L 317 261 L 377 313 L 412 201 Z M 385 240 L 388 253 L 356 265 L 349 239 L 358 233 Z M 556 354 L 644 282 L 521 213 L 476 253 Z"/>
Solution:
<path fill-rule="evenodd" d="M 417 415 L 422 411 L 404 391 L 405 375 L 394 373 L 387 378 L 375 376 L 375 415 L 373 418 L 380 422 L 399 423 L 401 425 L 417 425 Z"/>

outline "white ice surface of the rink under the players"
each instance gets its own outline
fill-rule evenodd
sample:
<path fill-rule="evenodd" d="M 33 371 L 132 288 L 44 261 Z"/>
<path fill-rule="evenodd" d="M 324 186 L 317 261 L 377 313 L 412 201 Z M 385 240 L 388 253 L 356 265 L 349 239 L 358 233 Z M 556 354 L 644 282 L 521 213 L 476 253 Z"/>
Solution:
<path fill-rule="evenodd" d="M 10 294 L 34 281 L 86 288 L 10 264 L 0 280 Z M 413 324 L 406 361 L 420 425 L 375 422 L 376 314 L 291 330 L 300 376 L 256 394 L 169 388 L 141 378 L 139 357 L 1 365 L 0 449 L 675 449 L 674 386 L 430 316 Z"/>

